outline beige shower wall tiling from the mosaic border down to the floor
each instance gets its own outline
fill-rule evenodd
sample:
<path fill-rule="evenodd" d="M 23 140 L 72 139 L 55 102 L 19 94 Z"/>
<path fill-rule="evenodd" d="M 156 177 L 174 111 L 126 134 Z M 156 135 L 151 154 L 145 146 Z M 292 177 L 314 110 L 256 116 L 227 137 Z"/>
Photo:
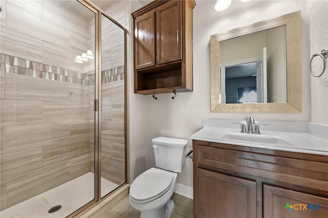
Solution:
<path fill-rule="evenodd" d="M 4 81 L 0 100 L 1 205 L 5 209 L 7 204 L 9 207 L 29 199 L 90 168 L 93 171 L 89 157 L 94 149 L 94 111 L 90 104 L 94 85 L 88 84 L 94 83 L 94 75 L 5 54 L 0 54 L 0 60 Z M 101 175 L 120 184 L 125 181 L 124 66 L 102 75 Z M 57 89 L 62 90 L 59 95 Z M 52 167 L 63 171 L 53 173 Z M 16 183 L 22 186 L 17 189 Z"/>

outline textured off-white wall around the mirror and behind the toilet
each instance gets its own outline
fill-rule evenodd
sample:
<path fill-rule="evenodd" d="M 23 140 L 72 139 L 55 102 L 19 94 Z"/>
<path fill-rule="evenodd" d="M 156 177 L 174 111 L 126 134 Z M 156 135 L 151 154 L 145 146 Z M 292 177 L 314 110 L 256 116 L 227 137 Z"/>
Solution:
<path fill-rule="evenodd" d="M 146 169 L 155 166 L 152 138 L 167 136 L 189 139 L 202 127 L 204 118 L 246 120 L 247 117 L 253 116 L 256 121 L 312 121 L 328 124 L 327 70 L 320 78 L 310 76 L 309 72 L 312 54 L 327 47 L 326 1 L 233 1 L 231 6 L 222 12 L 214 11 L 213 1 L 196 0 L 196 4 L 193 10 L 194 91 L 179 93 L 174 100 L 171 99 L 171 94 L 158 95 L 157 100 L 147 96 L 147 122 L 138 126 L 146 128 Z M 298 10 L 301 11 L 302 18 L 302 113 L 210 113 L 209 37 Z M 186 151 L 191 148 L 192 140 L 189 139 Z M 179 173 L 177 182 L 193 186 L 190 159 L 186 160 L 185 169 Z"/>

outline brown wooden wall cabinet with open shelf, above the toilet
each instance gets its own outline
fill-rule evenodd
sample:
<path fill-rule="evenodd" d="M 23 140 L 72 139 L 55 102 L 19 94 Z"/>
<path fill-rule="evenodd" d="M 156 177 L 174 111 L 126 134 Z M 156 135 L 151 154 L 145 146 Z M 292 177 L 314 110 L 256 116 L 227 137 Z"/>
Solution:
<path fill-rule="evenodd" d="M 132 13 L 134 92 L 193 90 L 192 10 L 194 0 L 153 1 Z"/>

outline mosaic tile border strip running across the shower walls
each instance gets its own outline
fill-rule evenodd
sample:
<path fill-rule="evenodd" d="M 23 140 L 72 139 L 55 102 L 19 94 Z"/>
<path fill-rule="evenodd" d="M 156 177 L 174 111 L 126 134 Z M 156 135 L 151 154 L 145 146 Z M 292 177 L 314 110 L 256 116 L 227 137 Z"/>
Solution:
<path fill-rule="evenodd" d="M 80 73 L 6 54 L 0 54 L 0 59 L 1 71 L 6 73 L 81 85 L 94 85 L 95 83 L 95 74 L 89 75 Z M 124 79 L 124 71 L 124 66 L 101 71 L 101 83 L 109 83 Z"/>

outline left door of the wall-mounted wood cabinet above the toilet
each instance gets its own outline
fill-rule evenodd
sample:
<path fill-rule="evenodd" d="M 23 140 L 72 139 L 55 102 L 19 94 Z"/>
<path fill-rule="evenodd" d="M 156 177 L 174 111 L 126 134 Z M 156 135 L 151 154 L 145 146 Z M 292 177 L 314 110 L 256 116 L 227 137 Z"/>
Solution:
<path fill-rule="evenodd" d="M 155 12 L 134 20 L 135 69 L 155 66 Z"/>

